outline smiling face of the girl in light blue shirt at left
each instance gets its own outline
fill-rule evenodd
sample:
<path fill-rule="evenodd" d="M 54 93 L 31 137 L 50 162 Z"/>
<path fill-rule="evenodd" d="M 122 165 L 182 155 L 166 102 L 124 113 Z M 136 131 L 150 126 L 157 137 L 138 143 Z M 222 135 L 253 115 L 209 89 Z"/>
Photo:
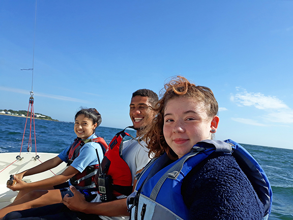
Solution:
<path fill-rule="evenodd" d="M 75 119 L 74 132 L 81 139 L 87 139 L 91 136 L 97 127 L 97 123 L 93 124 L 93 121 L 84 115 L 79 115 Z"/>

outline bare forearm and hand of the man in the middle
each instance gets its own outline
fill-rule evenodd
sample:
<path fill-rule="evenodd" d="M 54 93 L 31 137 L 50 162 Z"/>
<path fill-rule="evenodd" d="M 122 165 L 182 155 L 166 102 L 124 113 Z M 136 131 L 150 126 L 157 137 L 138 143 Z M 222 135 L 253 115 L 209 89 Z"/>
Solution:
<path fill-rule="evenodd" d="M 141 171 L 142 169 L 137 171 L 136 174 L 140 173 Z M 132 191 L 134 191 L 136 181 L 137 180 L 135 179 Z M 74 186 L 70 186 L 70 189 L 74 194 L 74 197 L 65 196 L 63 203 L 72 211 L 79 211 L 87 214 L 105 215 L 109 217 L 129 215 L 126 204 L 127 198 L 113 200 L 110 202 L 90 203 L 85 201 L 84 196 L 79 193 L 79 191 L 77 191 Z"/>

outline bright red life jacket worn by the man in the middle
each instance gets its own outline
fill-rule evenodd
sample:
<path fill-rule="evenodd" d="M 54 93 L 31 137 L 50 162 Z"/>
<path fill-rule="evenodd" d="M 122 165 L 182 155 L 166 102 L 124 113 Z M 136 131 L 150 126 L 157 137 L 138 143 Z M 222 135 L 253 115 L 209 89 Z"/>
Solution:
<path fill-rule="evenodd" d="M 123 131 L 118 132 L 109 144 L 105 156 L 101 162 L 102 173 L 110 175 L 112 178 L 112 189 L 115 197 L 132 193 L 132 175 L 128 164 L 123 159 L 123 138 L 131 136 Z M 97 183 L 96 176 L 96 183 Z"/>

